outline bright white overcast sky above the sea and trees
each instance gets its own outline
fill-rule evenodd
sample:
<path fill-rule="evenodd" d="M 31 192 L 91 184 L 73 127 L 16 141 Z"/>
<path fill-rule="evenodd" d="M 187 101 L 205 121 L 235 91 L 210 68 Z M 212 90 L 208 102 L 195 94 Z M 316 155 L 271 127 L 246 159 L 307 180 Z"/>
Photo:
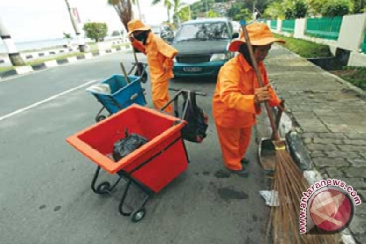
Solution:
<path fill-rule="evenodd" d="M 78 9 L 82 23 L 106 22 L 109 33 L 122 28 L 116 11 L 107 4 L 107 0 L 68 1 L 70 7 Z M 183 2 L 193 3 L 194 1 L 197 0 Z M 167 11 L 163 4 L 152 7 L 151 2 L 152 0 L 139 0 L 141 12 L 147 24 L 156 25 L 167 20 Z M 0 18 L 14 41 L 62 38 L 64 32 L 74 35 L 65 0 L 0 0 Z M 137 10 L 135 18 L 138 18 Z"/>

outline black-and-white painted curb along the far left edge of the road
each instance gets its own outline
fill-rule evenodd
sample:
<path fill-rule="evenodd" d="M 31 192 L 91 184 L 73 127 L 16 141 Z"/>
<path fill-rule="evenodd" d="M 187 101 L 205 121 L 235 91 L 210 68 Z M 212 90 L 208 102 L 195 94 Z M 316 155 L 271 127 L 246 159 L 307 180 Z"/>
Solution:
<path fill-rule="evenodd" d="M 124 50 L 128 50 L 128 49 L 131 49 L 131 46 L 126 46 L 126 48 Z M 20 67 L 13 68 L 12 70 L 0 72 L 0 80 L 3 78 L 14 77 L 16 75 L 22 75 L 22 74 L 26 74 L 26 73 L 29 74 L 34 71 L 46 70 L 48 68 L 54 68 L 54 67 L 64 65 L 64 64 L 75 63 L 77 61 L 91 59 L 96 56 L 108 55 L 111 53 L 119 52 L 121 50 L 123 50 L 123 48 L 121 48 L 121 47 L 107 49 L 107 50 L 97 50 L 96 52 L 85 53 L 85 54 L 74 56 L 74 57 L 68 57 L 66 59 L 57 59 L 56 58 L 55 60 L 45 61 L 44 63 L 40 63 L 40 64 L 20 66 Z"/>

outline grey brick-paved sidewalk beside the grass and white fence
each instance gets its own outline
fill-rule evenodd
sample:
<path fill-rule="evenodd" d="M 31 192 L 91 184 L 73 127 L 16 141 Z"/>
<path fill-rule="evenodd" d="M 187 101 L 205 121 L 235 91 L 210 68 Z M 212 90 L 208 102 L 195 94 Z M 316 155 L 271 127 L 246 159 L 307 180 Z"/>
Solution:
<path fill-rule="evenodd" d="M 361 197 L 350 230 L 366 243 L 366 93 L 280 46 L 266 67 L 314 168 Z"/>

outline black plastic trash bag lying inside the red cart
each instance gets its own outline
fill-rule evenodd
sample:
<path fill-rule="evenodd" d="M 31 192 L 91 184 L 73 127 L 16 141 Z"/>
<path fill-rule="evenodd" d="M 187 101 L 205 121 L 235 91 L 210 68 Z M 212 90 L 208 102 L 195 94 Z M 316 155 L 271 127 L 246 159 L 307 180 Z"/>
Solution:
<path fill-rule="evenodd" d="M 112 157 L 117 162 L 121 158 L 126 157 L 134 150 L 147 143 L 147 139 L 136 133 L 128 133 L 128 129 L 125 130 L 125 137 L 117 140 L 113 146 Z"/>

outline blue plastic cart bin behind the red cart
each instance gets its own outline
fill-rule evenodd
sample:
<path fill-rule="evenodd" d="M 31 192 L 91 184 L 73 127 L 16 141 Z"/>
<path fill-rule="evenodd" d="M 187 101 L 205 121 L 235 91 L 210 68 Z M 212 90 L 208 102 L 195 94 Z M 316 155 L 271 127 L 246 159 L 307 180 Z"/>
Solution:
<path fill-rule="evenodd" d="M 123 75 L 112 75 L 101 83 L 108 84 L 111 94 L 91 91 L 98 101 L 109 113 L 116 113 L 131 104 L 146 105 L 145 96 L 138 76 L 128 76 L 130 83 L 127 84 Z"/>

